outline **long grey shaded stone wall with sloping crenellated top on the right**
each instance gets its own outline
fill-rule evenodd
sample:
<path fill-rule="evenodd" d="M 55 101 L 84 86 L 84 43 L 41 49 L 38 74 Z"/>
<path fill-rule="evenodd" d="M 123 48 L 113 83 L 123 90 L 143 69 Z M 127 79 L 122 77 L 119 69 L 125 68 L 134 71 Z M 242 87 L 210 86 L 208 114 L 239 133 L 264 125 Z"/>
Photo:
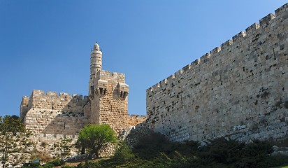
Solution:
<path fill-rule="evenodd" d="M 147 89 L 146 125 L 173 141 L 287 136 L 288 3 Z"/>

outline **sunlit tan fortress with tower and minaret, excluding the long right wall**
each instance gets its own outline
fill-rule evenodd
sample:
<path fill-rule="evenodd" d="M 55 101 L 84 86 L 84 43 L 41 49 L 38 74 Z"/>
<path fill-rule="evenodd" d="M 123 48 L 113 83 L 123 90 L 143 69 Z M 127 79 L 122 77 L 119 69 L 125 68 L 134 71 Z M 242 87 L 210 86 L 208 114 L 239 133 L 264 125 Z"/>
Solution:
<path fill-rule="evenodd" d="M 108 124 L 120 133 L 125 127 L 143 123 L 145 116 L 129 115 L 129 85 L 123 73 L 102 70 L 102 52 L 98 43 L 91 51 L 89 96 L 33 90 L 23 97 L 20 118 L 36 134 L 77 135 L 85 125 Z M 44 135 L 43 135 L 44 134 Z M 63 137 L 63 136 L 59 136 Z"/>

